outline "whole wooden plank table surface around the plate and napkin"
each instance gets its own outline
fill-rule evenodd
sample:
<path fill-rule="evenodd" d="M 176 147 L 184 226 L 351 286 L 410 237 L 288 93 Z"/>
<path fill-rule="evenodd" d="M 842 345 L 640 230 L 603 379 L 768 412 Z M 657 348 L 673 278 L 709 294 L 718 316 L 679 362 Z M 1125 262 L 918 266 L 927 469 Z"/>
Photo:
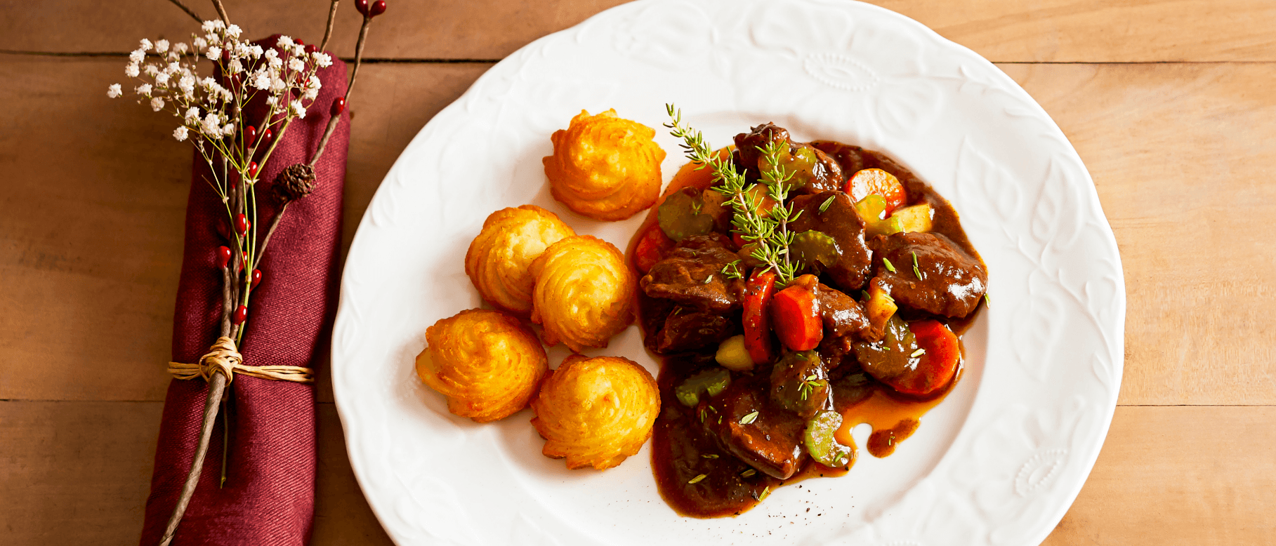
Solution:
<path fill-rule="evenodd" d="M 1081 153 L 1120 245 L 1120 406 L 1045 543 L 1276 542 L 1276 250 L 1263 239 L 1276 217 L 1276 1 L 877 3 L 1022 84 Z M 325 4 L 226 0 L 249 34 L 308 41 Z M 431 116 L 519 46 L 614 4 L 392 0 L 351 105 L 345 245 Z M 163 0 L 0 3 L 0 542 L 137 541 L 191 152 L 168 136 L 171 119 L 106 87 L 139 38 L 191 28 Z M 319 389 L 314 542 L 389 543 L 325 376 Z"/>

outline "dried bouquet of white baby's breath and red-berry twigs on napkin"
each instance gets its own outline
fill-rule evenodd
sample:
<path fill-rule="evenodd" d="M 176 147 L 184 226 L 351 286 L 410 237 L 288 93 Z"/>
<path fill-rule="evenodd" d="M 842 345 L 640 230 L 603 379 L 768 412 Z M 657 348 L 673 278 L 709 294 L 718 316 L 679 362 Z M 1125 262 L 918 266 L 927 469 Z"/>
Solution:
<path fill-rule="evenodd" d="M 197 17 L 180 1 L 171 1 Z M 227 230 L 226 246 L 217 250 L 223 296 L 219 330 L 221 337 L 228 337 L 237 344 L 242 341 L 246 327 L 251 292 L 262 279 L 258 264 L 269 235 L 278 226 L 279 217 L 287 208 L 286 203 L 305 196 L 314 182 L 313 170 L 308 171 L 309 179 L 301 175 L 293 177 L 297 180 L 290 186 L 290 198 L 276 208 L 269 231 L 258 242 L 258 233 L 262 231 L 258 227 L 258 175 L 269 162 L 288 126 L 304 119 L 318 97 L 322 87 L 318 70 L 330 66 L 333 61 L 328 54 L 287 36 L 279 37 L 269 47 L 242 40 L 242 29 L 228 22 L 221 1 L 213 0 L 213 4 L 219 19 L 202 22 L 200 32 L 191 34 L 189 42 L 142 40 L 139 47 L 129 54 L 124 74 L 139 80 L 133 88 L 139 103 L 145 103 L 156 112 L 168 112 L 179 120 L 172 130 L 174 139 L 190 142 L 209 167 L 211 180 L 205 179 L 205 182 L 221 200 L 219 208 L 225 210 L 226 222 L 231 227 Z M 376 4 L 376 14 L 385 10 L 384 1 Z M 336 1 L 333 5 L 336 6 Z M 365 14 L 360 51 L 370 17 L 375 15 Z M 204 60 L 212 63 L 211 71 L 200 71 Z M 122 97 L 124 93 L 125 89 L 119 83 L 107 87 L 110 98 Z M 267 112 L 260 119 L 249 117 L 248 106 L 253 101 L 265 103 Z M 342 101 L 343 107 L 343 100 L 338 101 Z M 339 111 L 334 112 L 334 120 L 339 117 L 337 114 Z M 329 124 L 324 142 L 330 135 L 332 126 Z M 314 158 L 320 153 L 322 149 Z M 218 404 L 228 389 L 228 378 L 212 374 L 208 385 L 195 458 L 174 506 L 162 545 L 172 540 L 199 481 L 212 425 L 219 412 Z M 222 469 L 225 472 L 225 463 Z M 223 473 L 222 481 L 225 480 Z"/>

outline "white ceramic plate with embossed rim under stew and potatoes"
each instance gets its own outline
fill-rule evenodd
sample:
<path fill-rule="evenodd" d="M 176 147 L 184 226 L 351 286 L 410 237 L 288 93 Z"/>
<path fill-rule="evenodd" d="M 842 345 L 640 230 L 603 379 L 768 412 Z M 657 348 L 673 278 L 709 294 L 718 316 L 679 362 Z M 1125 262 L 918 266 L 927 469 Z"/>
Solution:
<path fill-rule="evenodd" d="M 661 128 L 666 102 L 713 145 L 775 121 L 796 139 L 888 153 L 953 203 L 990 272 L 966 375 L 916 435 L 736 518 L 675 515 L 649 448 L 606 472 L 568 471 L 540 454 L 530 411 L 457 418 L 412 369 L 426 327 L 481 305 L 463 256 L 491 212 L 538 204 L 625 246 L 641 216 L 568 212 L 549 196 L 541 157 L 582 108 L 614 107 L 660 129 L 667 181 L 684 159 Z M 1030 545 L 1102 445 L 1124 315 L 1090 175 L 1045 111 L 979 55 L 868 4 L 647 0 L 510 55 L 403 151 L 350 251 L 333 388 L 359 482 L 403 546 Z M 637 327 L 590 355 L 657 371 Z M 564 356 L 550 351 L 550 365 Z"/>

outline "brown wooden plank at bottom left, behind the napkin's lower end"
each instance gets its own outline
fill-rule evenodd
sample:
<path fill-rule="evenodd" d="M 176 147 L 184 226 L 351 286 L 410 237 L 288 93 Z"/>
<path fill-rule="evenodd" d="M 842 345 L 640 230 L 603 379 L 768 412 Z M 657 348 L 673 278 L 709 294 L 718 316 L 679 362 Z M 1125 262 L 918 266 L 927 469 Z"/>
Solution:
<path fill-rule="evenodd" d="M 0 402 L 6 545 L 137 543 L 160 402 Z M 336 407 L 318 406 L 315 546 L 390 545 L 346 457 Z"/>

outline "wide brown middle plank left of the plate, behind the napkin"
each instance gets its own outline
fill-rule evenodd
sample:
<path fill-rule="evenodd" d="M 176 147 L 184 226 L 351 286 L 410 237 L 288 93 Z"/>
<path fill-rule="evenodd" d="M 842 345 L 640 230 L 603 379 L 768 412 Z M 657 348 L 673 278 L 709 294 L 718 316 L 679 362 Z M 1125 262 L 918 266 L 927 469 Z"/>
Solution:
<path fill-rule="evenodd" d="M 163 399 L 191 152 L 171 119 L 106 97 L 119 65 L 0 56 L 0 101 L 23 105 L 0 111 L 0 399 Z M 487 66 L 361 70 L 345 245 L 399 151 Z"/>

